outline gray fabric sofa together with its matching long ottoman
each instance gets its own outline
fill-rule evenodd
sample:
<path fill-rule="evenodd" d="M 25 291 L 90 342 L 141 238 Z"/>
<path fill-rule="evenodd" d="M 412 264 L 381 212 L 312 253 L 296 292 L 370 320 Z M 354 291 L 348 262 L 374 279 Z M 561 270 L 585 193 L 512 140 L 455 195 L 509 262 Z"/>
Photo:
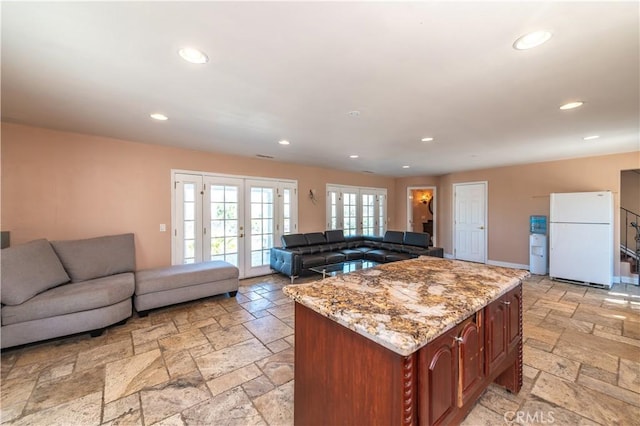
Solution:
<path fill-rule="evenodd" d="M 2 249 L 1 348 L 124 322 L 150 309 L 238 291 L 238 268 L 211 261 L 136 271 L 133 234 L 41 239 Z M 143 311 L 143 312 L 140 312 Z"/>

